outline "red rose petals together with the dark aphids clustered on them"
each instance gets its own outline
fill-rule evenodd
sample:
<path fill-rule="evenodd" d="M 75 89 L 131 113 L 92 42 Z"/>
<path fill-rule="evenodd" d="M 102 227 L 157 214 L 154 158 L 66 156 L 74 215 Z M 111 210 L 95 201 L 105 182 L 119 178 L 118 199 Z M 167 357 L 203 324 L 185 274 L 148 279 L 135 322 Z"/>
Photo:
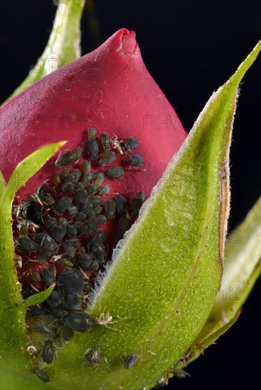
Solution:
<path fill-rule="evenodd" d="M 67 140 L 17 192 L 13 238 L 23 299 L 57 283 L 48 299 L 30 306 L 30 328 L 52 339 L 56 316 L 69 340 L 87 330 L 79 317 L 87 307 L 82 294 L 111 260 L 186 133 L 126 28 L 11 99 L 1 117 L 6 181 L 41 145 Z M 35 320 L 43 315 L 48 325 Z"/>

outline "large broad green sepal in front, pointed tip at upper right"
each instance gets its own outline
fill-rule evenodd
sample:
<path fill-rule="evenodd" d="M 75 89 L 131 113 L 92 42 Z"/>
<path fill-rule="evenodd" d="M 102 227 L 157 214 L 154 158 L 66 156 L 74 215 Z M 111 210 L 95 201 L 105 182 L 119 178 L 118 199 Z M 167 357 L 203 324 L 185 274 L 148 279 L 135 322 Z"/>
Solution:
<path fill-rule="evenodd" d="M 113 329 L 100 325 L 75 335 L 46 368 L 53 384 L 68 386 L 71 376 L 77 388 L 143 388 L 168 372 L 199 335 L 221 282 L 238 84 L 259 51 L 260 44 L 211 96 L 114 252 L 89 308 L 92 318 L 110 313 Z M 89 348 L 100 349 L 94 376 L 94 364 L 82 366 Z M 125 369 L 130 354 L 137 360 Z"/>

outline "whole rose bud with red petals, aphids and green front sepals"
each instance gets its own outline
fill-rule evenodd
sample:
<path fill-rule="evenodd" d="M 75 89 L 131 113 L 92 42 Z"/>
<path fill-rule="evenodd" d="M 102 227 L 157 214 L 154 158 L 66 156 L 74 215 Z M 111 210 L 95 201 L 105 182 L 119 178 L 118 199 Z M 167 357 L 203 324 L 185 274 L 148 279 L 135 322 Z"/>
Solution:
<path fill-rule="evenodd" d="M 171 162 L 186 133 L 126 29 L 1 108 L 5 383 L 159 388 L 235 323 L 214 301 L 237 88 L 259 50 Z"/>

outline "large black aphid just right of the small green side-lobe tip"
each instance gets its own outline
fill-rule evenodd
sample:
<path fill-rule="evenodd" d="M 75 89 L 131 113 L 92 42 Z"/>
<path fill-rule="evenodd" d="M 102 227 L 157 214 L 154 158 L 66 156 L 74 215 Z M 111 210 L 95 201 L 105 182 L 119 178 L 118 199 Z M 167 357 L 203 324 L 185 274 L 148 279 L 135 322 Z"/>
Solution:
<path fill-rule="evenodd" d="M 84 290 L 84 277 L 79 269 L 67 269 L 60 272 L 57 286 L 62 294 L 82 294 Z"/>

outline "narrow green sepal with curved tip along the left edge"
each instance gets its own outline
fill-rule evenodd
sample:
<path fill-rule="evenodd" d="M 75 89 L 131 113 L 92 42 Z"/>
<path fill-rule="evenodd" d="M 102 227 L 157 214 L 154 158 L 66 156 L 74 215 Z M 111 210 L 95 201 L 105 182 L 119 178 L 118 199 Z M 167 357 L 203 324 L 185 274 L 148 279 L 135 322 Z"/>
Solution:
<path fill-rule="evenodd" d="M 0 198 L 0 342 L 1 342 L 1 369 L 13 367 L 15 371 L 30 367 L 28 354 L 25 353 L 28 335 L 26 329 L 26 309 L 32 303 L 33 297 L 28 301 L 22 301 L 18 283 L 15 262 L 13 235 L 11 225 L 11 205 L 16 191 L 26 183 L 45 162 L 65 145 L 60 143 L 45 145 L 32 155 L 26 157 L 13 171 L 9 183 L 5 187 Z M 50 294 L 49 291 L 40 293 L 40 297 Z M 39 296 L 38 296 L 39 299 Z M 11 310 L 11 308 L 13 308 Z M 4 369 L 4 368 L 3 368 Z M 28 368 L 27 368 L 28 369 Z"/>

